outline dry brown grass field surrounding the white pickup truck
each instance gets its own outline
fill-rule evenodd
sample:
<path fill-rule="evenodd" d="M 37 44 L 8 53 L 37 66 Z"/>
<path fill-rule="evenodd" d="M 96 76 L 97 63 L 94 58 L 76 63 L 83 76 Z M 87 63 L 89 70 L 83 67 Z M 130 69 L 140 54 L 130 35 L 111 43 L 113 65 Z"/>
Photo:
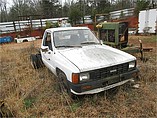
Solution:
<path fill-rule="evenodd" d="M 150 37 L 146 38 L 151 40 Z M 135 39 L 136 37 L 132 37 L 131 43 L 136 44 Z M 149 60 L 143 63 L 138 59 L 139 89 L 125 85 L 116 94 L 107 91 L 76 100 L 66 96 L 68 102 L 59 91 L 56 78 L 47 68 L 39 70 L 31 68 L 29 55 L 36 52 L 32 42 L 1 45 L 0 99 L 11 111 L 10 116 L 14 117 L 155 118 L 157 117 L 155 42 L 152 42 L 153 52 L 146 55 Z M 147 43 L 145 39 L 144 43 Z M 34 42 L 36 47 L 39 47 L 39 44 L 40 41 Z"/>

